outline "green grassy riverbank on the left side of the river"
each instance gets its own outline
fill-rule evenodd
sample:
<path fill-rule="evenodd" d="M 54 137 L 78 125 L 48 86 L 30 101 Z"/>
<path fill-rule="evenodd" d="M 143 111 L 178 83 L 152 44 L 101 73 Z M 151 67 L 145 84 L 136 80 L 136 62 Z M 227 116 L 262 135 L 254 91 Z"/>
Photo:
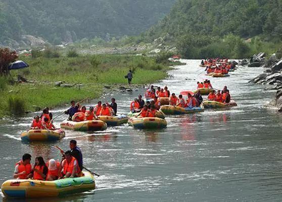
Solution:
<path fill-rule="evenodd" d="M 51 55 L 52 56 L 52 55 Z M 98 98 L 104 86 L 126 85 L 124 75 L 133 71 L 133 84 L 149 84 L 163 79 L 169 69 L 167 62 L 145 56 L 80 55 L 67 57 L 40 54 L 20 57 L 30 66 L 21 70 L 28 83 L 11 84 L 11 78 L 0 80 L 0 117 L 22 111 L 34 111 L 35 106 L 55 107 L 70 100 Z M 158 62 L 157 62 L 158 61 Z M 18 70 L 11 71 L 15 79 Z M 55 86 L 56 82 L 63 82 Z M 63 87 L 64 84 L 68 87 Z"/>

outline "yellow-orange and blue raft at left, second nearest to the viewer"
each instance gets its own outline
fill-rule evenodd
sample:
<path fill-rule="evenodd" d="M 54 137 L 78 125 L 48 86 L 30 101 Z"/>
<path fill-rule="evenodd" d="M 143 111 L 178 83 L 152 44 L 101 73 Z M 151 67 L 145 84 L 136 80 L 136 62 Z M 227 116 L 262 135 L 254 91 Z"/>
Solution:
<path fill-rule="evenodd" d="M 57 141 L 66 135 L 62 129 L 51 130 L 29 130 L 21 134 L 22 141 Z"/>

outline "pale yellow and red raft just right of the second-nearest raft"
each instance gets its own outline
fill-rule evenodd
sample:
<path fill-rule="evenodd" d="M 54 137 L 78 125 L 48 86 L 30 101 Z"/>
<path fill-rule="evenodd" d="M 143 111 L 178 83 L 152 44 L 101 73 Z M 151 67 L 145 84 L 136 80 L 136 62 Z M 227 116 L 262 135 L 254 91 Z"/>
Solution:
<path fill-rule="evenodd" d="M 103 131 L 107 129 L 107 124 L 103 120 L 84 120 L 84 122 L 64 120 L 61 128 L 75 131 Z"/>

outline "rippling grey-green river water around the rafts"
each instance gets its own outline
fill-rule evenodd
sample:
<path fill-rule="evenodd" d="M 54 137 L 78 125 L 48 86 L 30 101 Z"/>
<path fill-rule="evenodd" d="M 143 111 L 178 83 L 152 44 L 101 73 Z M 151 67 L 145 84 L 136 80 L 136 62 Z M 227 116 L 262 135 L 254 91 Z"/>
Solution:
<path fill-rule="evenodd" d="M 167 85 L 178 94 L 195 89 L 198 80 L 207 78 L 204 73 L 197 75 L 203 70 L 199 60 L 181 61 L 187 64 L 171 70 L 156 85 Z M 59 159 L 54 145 L 67 149 L 75 138 L 84 166 L 101 175 L 96 178 L 97 189 L 53 201 L 281 201 L 282 117 L 264 107 L 274 92 L 248 83 L 262 71 L 242 67 L 230 77 L 209 77 L 214 88 L 227 85 L 238 106 L 168 116 L 163 130 L 135 130 L 126 125 L 104 132 L 66 131 L 66 137 L 56 143 L 26 144 L 20 134 L 35 114 L 3 120 L 0 183 L 12 178 L 23 153 Z M 127 113 L 130 101 L 144 91 L 106 98 L 116 97 L 118 113 Z M 64 118 L 56 119 L 55 125 Z"/>

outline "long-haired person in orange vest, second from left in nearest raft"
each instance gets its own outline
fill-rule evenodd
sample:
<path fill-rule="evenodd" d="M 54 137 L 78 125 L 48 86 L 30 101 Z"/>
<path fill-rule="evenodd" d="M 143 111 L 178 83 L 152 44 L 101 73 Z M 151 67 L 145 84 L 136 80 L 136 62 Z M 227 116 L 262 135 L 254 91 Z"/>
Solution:
<path fill-rule="evenodd" d="M 46 180 L 48 167 L 41 156 L 35 158 L 35 164 L 31 173 L 33 174 L 32 179 L 34 180 Z"/>

